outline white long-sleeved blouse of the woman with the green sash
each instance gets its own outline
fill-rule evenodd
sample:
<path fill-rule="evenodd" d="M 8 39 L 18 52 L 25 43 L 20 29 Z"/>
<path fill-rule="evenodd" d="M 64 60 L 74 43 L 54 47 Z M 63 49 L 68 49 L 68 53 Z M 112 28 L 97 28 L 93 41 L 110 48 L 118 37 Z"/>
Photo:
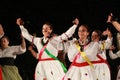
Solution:
<path fill-rule="evenodd" d="M 75 29 L 77 28 L 77 25 L 73 25 L 70 27 L 65 33 L 61 34 L 60 36 L 53 37 L 47 44 L 46 48 L 47 50 L 53 54 L 54 56 L 58 56 L 58 44 L 59 42 L 62 42 L 62 40 L 67 40 L 68 37 L 71 37 L 73 33 L 75 32 Z M 28 41 L 32 42 L 33 36 L 29 34 L 28 30 L 24 28 L 24 26 L 20 26 L 21 32 L 23 34 L 23 37 L 27 39 Z M 40 50 L 43 48 L 43 45 L 41 41 L 47 41 L 44 37 L 34 37 L 34 44 L 37 47 L 38 54 L 37 59 L 39 57 Z M 42 58 L 50 58 L 49 55 L 44 51 Z"/>

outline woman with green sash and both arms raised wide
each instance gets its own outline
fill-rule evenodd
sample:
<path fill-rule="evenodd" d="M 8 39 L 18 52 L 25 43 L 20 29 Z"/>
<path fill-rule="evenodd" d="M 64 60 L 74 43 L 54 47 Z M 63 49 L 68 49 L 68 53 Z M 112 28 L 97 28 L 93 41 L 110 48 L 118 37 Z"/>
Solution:
<path fill-rule="evenodd" d="M 74 25 L 65 33 L 60 36 L 52 36 L 52 26 L 49 23 L 45 23 L 42 27 L 43 37 L 33 37 L 30 35 L 23 24 L 21 24 L 21 18 L 17 19 L 23 36 L 30 42 L 33 42 L 37 47 L 38 54 L 32 51 L 33 56 L 39 59 L 39 62 L 35 69 L 35 80 L 61 80 L 65 75 L 65 67 L 57 59 L 58 56 L 58 44 L 62 40 L 66 40 L 71 37 L 79 24 L 78 19 L 74 20 Z"/>

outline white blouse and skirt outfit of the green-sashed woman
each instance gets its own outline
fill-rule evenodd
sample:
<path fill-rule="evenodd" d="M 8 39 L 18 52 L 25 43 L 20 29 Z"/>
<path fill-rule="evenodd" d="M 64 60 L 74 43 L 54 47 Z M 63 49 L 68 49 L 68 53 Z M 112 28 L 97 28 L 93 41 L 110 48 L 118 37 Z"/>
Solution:
<path fill-rule="evenodd" d="M 77 25 L 73 25 L 68 31 L 63 33 L 60 36 L 53 37 L 47 44 L 46 49 L 53 54 L 55 57 L 58 56 L 58 44 L 63 40 L 66 40 L 68 37 L 71 37 L 76 29 Z M 23 26 L 20 26 L 21 32 L 25 39 L 32 42 L 33 36 L 30 35 Z M 66 36 L 67 35 L 67 36 Z M 47 40 L 43 37 L 34 37 L 34 44 L 37 47 L 39 58 L 39 53 L 41 52 L 43 46 L 41 41 L 46 42 Z M 61 80 L 65 75 L 63 68 L 58 60 L 51 60 L 51 57 L 44 51 L 41 60 L 38 62 L 35 69 L 35 80 Z"/>

